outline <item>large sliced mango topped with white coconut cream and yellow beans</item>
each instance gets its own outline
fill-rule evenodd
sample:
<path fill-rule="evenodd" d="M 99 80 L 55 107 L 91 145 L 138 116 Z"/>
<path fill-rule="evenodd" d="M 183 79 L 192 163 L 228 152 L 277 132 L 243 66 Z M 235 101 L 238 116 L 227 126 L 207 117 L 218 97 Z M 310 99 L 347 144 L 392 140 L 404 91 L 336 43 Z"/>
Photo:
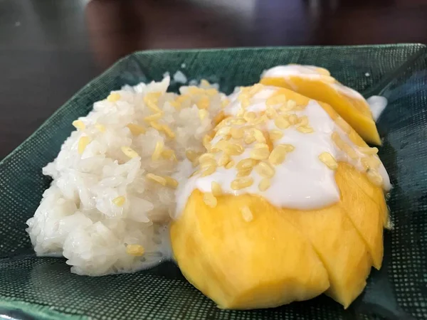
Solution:
<path fill-rule="evenodd" d="M 349 306 L 381 267 L 390 181 L 378 149 L 330 105 L 291 90 L 257 84 L 230 98 L 177 189 L 181 271 L 223 308 L 322 292 Z"/>

